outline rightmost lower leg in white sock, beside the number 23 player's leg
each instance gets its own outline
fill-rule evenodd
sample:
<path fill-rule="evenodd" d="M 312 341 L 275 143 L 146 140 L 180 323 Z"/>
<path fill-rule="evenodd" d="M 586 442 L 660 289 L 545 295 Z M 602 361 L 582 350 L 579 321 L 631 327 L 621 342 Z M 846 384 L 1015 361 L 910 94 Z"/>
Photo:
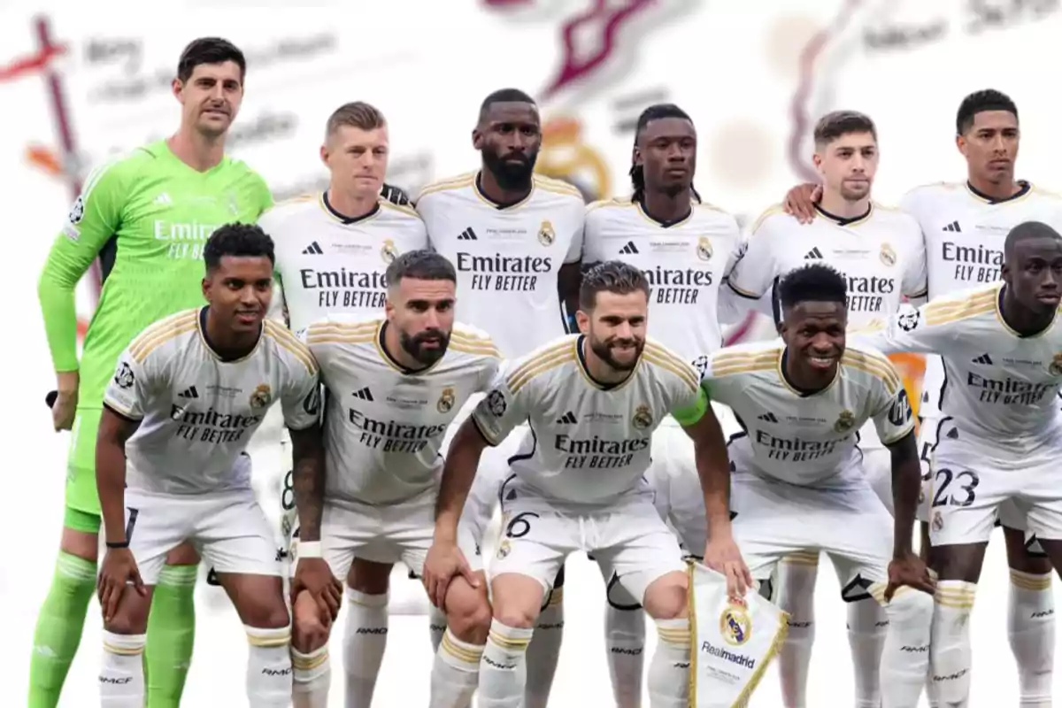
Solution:
<path fill-rule="evenodd" d="M 1022 706 L 1049 706 L 1055 669 L 1051 562 L 1029 548 L 1024 531 L 1003 531 L 1010 566 L 1007 637 L 1017 663 L 1018 700 Z"/>

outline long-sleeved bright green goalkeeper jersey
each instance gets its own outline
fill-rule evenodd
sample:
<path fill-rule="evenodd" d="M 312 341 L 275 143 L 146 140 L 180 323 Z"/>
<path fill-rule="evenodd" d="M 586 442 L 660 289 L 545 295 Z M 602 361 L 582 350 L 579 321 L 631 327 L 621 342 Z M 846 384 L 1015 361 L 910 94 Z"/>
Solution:
<path fill-rule="evenodd" d="M 80 409 L 102 407 L 118 356 L 148 325 L 203 304 L 203 246 L 222 224 L 255 223 L 264 180 L 224 157 L 199 172 L 165 140 L 95 170 L 48 255 L 38 286 L 56 372 L 80 368 Z M 103 291 L 78 363 L 78 281 L 100 257 Z"/>

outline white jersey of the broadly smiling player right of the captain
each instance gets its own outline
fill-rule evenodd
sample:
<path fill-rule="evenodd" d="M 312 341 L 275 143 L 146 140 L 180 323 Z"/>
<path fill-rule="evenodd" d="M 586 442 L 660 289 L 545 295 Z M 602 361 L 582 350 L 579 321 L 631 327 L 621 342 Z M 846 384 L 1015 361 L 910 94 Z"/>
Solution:
<path fill-rule="evenodd" d="M 869 346 L 849 344 L 837 378 L 804 395 L 784 374 L 780 340 L 720 349 L 701 382 L 730 405 L 744 434 L 729 446 L 738 470 L 804 486 L 843 486 L 862 478 L 855 433 L 873 420 L 891 445 L 914 428 L 900 374 Z"/>

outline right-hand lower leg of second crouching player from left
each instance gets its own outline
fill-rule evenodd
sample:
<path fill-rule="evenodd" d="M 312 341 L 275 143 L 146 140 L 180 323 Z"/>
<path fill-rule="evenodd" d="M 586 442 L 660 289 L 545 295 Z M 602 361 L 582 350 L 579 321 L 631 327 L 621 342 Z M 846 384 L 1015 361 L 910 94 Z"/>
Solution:
<path fill-rule="evenodd" d="M 483 572 L 476 576 L 479 587 L 457 575 L 446 590 L 443 609 L 447 626 L 431 667 L 430 708 L 466 708 L 479 686 L 480 661 L 491 629 L 491 603 Z M 480 705 L 490 704 L 481 698 Z"/>

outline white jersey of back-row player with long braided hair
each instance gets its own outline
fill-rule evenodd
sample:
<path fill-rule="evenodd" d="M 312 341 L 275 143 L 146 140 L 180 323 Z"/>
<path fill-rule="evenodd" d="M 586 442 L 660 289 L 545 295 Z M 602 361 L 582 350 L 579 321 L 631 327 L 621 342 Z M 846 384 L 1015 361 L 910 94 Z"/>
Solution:
<path fill-rule="evenodd" d="M 740 229 L 731 214 L 695 202 L 689 217 L 662 224 L 637 202 L 615 198 L 586 209 L 583 260 L 621 260 L 649 279 L 654 336 L 688 362 L 722 346 L 719 287 L 737 259 Z"/>

